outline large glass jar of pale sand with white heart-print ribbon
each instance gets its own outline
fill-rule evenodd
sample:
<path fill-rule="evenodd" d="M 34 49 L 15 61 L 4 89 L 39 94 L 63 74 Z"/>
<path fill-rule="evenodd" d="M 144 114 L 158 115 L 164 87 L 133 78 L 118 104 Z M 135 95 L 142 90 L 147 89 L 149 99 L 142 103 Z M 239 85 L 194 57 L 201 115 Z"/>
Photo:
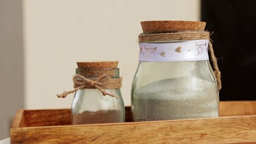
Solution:
<path fill-rule="evenodd" d="M 170 32 L 164 28 L 188 26 L 180 26 L 181 22 L 183 23 L 183 21 L 148 22 L 158 24 L 161 30 L 157 29 L 158 26 L 143 28 L 142 25 L 143 32 L 149 28 L 154 28 L 155 32 L 141 34 L 151 35 L 144 38 L 143 44 L 140 43 L 139 47 L 140 60 L 131 89 L 133 121 L 219 116 L 219 89 L 208 60 L 208 38 L 193 39 L 194 41 L 184 40 L 183 36 L 177 39 L 172 39 L 173 37 L 170 36 L 168 36 L 170 39 L 165 38 L 165 35 L 168 35 L 166 33 L 178 33 L 177 31 L 181 29 L 177 31 L 170 29 L 173 31 Z M 166 26 L 166 23 L 171 26 Z M 184 35 L 183 33 L 181 35 Z M 166 61 L 165 58 L 168 60 Z"/>

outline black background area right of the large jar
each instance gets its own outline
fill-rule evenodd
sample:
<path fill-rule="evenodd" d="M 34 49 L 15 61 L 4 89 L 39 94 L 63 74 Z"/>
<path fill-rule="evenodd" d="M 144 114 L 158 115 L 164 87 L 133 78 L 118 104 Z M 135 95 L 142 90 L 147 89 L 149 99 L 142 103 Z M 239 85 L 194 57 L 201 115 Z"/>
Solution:
<path fill-rule="evenodd" d="M 201 21 L 213 32 L 213 49 L 222 72 L 220 100 L 256 100 L 254 3 L 201 0 Z"/>

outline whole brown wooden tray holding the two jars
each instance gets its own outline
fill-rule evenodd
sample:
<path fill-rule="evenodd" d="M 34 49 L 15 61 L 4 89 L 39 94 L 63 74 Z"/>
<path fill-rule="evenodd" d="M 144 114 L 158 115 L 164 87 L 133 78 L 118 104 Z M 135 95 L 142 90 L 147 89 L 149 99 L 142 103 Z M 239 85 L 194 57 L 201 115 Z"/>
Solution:
<path fill-rule="evenodd" d="M 256 101 L 220 102 L 218 118 L 70 125 L 71 111 L 19 110 L 11 143 L 256 143 Z"/>

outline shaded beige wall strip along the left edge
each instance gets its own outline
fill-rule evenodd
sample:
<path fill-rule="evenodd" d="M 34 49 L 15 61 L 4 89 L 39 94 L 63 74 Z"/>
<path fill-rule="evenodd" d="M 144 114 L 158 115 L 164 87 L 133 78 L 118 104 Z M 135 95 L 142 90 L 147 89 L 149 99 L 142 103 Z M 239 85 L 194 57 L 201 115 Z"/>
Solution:
<path fill-rule="evenodd" d="M 0 1 L 0 140 L 18 109 L 24 108 L 22 1 Z"/>

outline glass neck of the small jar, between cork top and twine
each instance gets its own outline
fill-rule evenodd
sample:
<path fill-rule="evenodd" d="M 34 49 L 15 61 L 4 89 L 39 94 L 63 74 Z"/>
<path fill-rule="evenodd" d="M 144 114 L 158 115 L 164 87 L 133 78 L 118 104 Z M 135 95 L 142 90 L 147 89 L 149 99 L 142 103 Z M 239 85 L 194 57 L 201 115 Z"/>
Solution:
<path fill-rule="evenodd" d="M 77 68 L 75 74 L 82 75 L 88 79 L 97 79 L 103 74 L 109 75 L 110 78 L 118 79 L 119 68 L 107 68 L 107 69 L 88 69 L 88 68 Z"/>

